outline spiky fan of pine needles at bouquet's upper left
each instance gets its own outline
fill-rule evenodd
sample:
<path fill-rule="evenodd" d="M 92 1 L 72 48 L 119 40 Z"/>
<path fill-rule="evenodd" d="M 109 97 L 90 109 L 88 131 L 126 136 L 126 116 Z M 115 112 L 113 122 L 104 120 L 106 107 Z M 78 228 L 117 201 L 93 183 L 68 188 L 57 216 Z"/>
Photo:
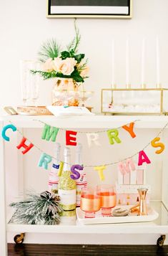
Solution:
<path fill-rule="evenodd" d="M 56 39 L 49 39 L 41 45 L 41 50 L 38 52 L 39 60 L 45 62 L 47 59 L 51 58 L 54 60 L 60 54 L 60 46 L 57 44 Z"/>

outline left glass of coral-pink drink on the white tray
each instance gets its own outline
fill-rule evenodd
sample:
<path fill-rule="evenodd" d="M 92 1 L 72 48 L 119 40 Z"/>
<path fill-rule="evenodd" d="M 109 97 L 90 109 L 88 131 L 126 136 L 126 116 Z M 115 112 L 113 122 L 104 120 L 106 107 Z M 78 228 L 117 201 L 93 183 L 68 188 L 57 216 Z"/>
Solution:
<path fill-rule="evenodd" d="M 81 189 L 80 208 L 85 212 L 85 218 L 94 218 L 95 212 L 101 208 L 101 199 L 97 195 L 97 190 L 91 186 Z"/>

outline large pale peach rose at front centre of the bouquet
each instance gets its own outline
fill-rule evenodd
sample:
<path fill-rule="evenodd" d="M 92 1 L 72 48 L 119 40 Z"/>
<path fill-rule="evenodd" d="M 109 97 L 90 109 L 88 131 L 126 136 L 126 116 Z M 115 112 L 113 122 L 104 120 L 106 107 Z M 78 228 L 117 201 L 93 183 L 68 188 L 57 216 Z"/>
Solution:
<path fill-rule="evenodd" d="M 61 60 L 61 58 L 54 58 L 54 70 L 56 72 L 61 72 L 63 75 L 71 75 L 74 71 L 74 66 L 76 65 L 76 60 L 74 58 L 66 58 Z"/>

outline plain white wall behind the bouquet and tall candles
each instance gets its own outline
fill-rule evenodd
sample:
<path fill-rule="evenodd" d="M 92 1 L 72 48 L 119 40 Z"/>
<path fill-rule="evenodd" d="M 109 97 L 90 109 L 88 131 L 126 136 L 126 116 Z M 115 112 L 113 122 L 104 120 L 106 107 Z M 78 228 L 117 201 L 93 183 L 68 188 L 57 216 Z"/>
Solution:
<path fill-rule="evenodd" d="M 142 38 L 146 38 L 145 80 L 149 87 L 156 85 L 156 37 L 159 36 L 161 82 L 168 87 L 168 1 L 133 0 L 133 18 L 78 19 L 81 33 L 80 52 L 89 58 L 89 79 L 86 90 L 94 90 L 92 105 L 100 111 L 100 93 L 112 82 L 112 39 L 115 47 L 115 77 L 120 87 L 125 85 L 125 42 L 130 41 L 130 80 L 134 87 L 140 84 Z M 68 44 L 74 37 L 74 19 L 46 19 L 46 0 L 1 1 L 0 105 L 20 105 L 19 60 L 37 58 L 37 52 L 46 39 L 55 37 Z M 51 103 L 53 81 L 41 80 L 40 105 Z"/>

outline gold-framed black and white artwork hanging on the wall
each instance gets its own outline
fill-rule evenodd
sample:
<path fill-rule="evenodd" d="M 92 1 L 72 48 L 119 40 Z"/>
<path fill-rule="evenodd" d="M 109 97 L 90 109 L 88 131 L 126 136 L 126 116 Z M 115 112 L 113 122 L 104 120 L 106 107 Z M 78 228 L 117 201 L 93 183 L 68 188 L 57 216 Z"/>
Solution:
<path fill-rule="evenodd" d="M 132 18 L 132 0 L 47 0 L 48 18 Z"/>

